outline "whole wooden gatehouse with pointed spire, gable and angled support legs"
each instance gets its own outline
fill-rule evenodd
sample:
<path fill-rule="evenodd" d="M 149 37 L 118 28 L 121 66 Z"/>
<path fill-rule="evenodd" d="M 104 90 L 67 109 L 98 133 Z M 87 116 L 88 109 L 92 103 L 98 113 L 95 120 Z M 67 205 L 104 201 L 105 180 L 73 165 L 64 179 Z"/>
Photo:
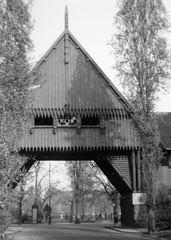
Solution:
<path fill-rule="evenodd" d="M 38 160 L 94 160 L 121 194 L 123 224 L 134 224 L 141 194 L 140 139 L 132 109 L 65 30 L 32 71 L 35 102 L 21 141 L 29 170 Z"/>

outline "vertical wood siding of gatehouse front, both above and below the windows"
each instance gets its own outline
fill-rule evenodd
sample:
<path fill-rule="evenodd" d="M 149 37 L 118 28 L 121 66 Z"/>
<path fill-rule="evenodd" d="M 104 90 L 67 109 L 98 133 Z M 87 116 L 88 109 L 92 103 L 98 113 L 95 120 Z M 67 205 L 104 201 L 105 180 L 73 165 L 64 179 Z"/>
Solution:
<path fill-rule="evenodd" d="M 21 141 L 21 148 L 35 149 L 95 149 L 137 148 L 139 136 L 129 119 L 123 99 L 111 86 L 103 72 L 93 62 L 79 43 L 67 31 L 67 63 L 64 59 L 66 43 L 64 34 L 41 59 L 34 71 L 37 84 L 35 103 L 31 115 L 64 116 L 66 99 L 71 115 L 103 117 L 104 133 L 99 128 L 33 128 Z"/>

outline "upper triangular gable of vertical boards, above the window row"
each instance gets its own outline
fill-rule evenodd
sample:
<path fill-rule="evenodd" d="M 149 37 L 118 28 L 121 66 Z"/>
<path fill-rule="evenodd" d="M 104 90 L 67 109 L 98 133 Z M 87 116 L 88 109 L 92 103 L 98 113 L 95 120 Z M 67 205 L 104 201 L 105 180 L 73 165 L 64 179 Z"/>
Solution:
<path fill-rule="evenodd" d="M 33 73 L 34 84 L 42 86 L 36 90 L 35 109 L 63 109 L 68 102 L 73 111 L 131 111 L 125 98 L 68 29 L 40 59 Z"/>

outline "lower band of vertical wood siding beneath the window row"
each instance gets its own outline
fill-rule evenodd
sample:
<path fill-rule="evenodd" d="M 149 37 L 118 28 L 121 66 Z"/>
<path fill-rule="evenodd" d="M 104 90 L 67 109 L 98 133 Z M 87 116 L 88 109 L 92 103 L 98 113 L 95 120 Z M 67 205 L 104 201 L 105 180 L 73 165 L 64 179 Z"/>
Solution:
<path fill-rule="evenodd" d="M 128 134 L 125 129 L 132 128 L 131 134 Z M 29 150 L 35 149 L 61 149 L 80 147 L 81 150 L 91 148 L 123 148 L 132 149 L 139 146 L 138 136 L 135 134 L 136 129 L 130 125 L 127 119 L 119 119 L 105 122 L 104 133 L 101 133 L 100 128 L 81 128 L 80 134 L 76 127 L 58 128 L 56 134 L 53 134 L 53 128 L 34 128 L 33 133 L 26 133 L 21 141 L 21 148 Z M 136 140 L 136 141 L 135 141 Z"/>

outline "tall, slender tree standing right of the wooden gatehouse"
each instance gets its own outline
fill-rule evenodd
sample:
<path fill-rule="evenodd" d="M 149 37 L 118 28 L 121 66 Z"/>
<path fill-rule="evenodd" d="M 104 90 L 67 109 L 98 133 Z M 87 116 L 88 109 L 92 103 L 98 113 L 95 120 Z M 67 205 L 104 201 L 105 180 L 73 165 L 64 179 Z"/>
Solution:
<path fill-rule="evenodd" d="M 162 0 L 119 0 L 116 34 L 110 44 L 130 111 L 141 139 L 142 187 L 147 194 L 149 232 L 155 230 L 155 178 L 162 158 L 155 104 L 170 80 L 166 32 L 168 16 Z"/>

